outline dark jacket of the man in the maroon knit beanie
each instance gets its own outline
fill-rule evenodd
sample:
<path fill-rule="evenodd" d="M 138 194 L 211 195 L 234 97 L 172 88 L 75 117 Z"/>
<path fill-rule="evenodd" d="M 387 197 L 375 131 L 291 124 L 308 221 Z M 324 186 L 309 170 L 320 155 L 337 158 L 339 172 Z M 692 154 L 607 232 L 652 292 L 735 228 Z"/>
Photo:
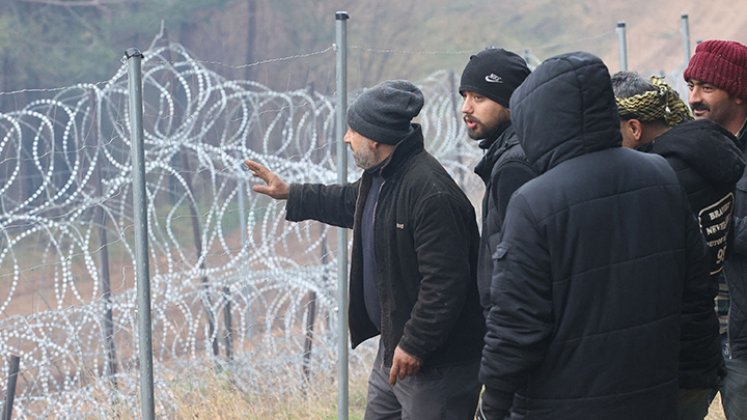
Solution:
<path fill-rule="evenodd" d="M 747 129 L 737 144 L 747 159 Z M 728 342 L 731 357 L 747 359 L 747 171 L 737 182 L 734 206 L 734 247 L 725 266 L 729 286 Z"/>

